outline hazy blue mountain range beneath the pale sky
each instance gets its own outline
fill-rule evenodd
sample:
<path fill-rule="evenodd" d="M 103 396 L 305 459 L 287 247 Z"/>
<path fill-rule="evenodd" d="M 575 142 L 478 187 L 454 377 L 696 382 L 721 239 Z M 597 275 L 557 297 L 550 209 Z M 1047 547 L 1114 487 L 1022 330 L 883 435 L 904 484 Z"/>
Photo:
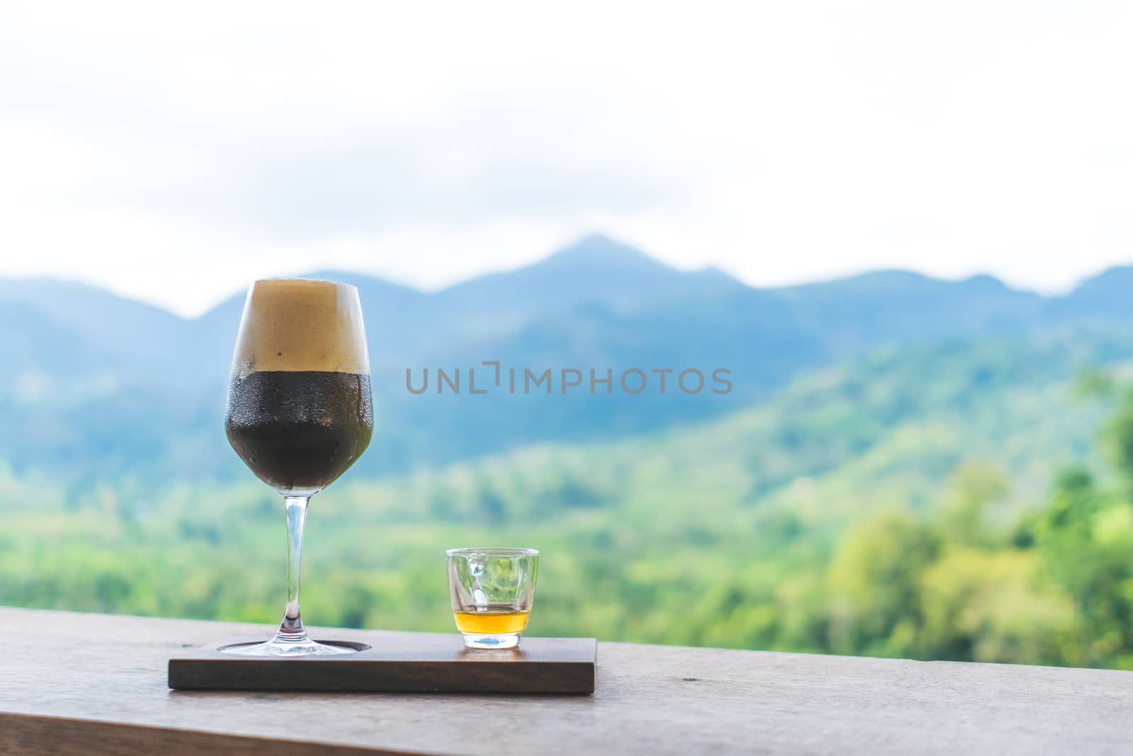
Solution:
<path fill-rule="evenodd" d="M 358 287 L 375 390 L 372 473 L 537 441 L 611 439 L 734 411 L 800 373 L 883 346 L 1133 325 L 1133 267 L 1065 296 L 909 271 L 752 288 L 716 269 L 680 271 L 604 236 L 518 270 L 426 294 L 368 275 Z M 235 295 L 187 320 L 83 283 L 0 279 L 0 460 L 102 477 L 231 475 L 220 413 L 242 307 Z M 614 371 L 612 396 L 414 396 L 406 371 L 500 360 L 535 373 Z M 638 368 L 730 371 L 732 391 L 628 396 Z M 435 375 L 435 373 L 434 373 Z M 477 373 L 477 381 L 486 373 Z M 465 384 L 467 387 L 467 383 Z M 482 384 L 483 385 L 483 384 Z"/>

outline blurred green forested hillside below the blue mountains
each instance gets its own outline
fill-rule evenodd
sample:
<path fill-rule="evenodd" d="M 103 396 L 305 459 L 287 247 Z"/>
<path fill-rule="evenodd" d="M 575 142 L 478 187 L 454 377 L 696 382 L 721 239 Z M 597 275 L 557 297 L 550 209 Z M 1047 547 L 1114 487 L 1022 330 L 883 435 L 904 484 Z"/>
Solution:
<path fill-rule="evenodd" d="M 1133 390 L 1075 367 L 1110 346 L 881 350 L 718 421 L 348 474 L 312 501 L 304 615 L 453 630 L 444 549 L 522 545 L 534 635 L 1133 669 Z M 0 491 L 0 604 L 278 621 L 250 474 Z"/>

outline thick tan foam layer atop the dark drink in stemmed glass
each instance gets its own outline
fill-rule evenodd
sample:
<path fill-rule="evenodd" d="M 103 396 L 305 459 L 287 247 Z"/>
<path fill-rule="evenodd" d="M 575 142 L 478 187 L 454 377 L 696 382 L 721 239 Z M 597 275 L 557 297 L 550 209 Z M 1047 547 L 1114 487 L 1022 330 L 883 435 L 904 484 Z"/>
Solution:
<path fill-rule="evenodd" d="M 358 290 L 312 279 L 264 279 L 248 289 L 232 367 L 369 373 Z"/>

